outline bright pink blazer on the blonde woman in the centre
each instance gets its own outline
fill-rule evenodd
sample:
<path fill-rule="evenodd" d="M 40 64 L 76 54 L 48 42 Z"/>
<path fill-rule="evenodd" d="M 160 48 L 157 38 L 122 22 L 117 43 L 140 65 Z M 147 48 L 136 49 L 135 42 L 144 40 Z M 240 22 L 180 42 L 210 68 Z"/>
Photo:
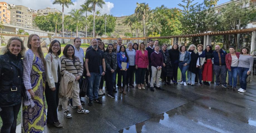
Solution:
<path fill-rule="evenodd" d="M 149 65 L 147 50 L 144 50 L 144 55 L 141 50 L 136 51 L 135 65 L 138 65 L 138 68 L 147 68 L 147 65 Z"/>

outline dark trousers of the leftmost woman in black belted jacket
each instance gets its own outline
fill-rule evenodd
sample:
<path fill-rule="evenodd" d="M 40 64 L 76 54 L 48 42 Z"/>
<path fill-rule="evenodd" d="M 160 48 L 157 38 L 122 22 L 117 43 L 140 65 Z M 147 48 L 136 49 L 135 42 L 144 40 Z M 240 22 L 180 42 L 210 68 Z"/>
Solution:
<path fill-rule="evenodd" d="M 17 117 L 20 107 L 21 103 L 14 106 L 1 107 L 2 111 L 0 112 L 0 116 L 3 121 L 1 133 L 16 132 Z"/>

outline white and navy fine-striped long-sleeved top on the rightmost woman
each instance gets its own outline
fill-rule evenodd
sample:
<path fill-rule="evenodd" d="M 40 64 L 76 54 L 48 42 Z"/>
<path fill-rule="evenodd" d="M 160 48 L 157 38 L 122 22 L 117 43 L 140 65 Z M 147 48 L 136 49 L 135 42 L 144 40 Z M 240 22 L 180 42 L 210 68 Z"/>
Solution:
<path fill-rule="evenodd" d="M 253 66 L 253 57 L 251 55 L 239 55 L 238 67 L 249 68 L 249 71 L 252 71 Z"/>

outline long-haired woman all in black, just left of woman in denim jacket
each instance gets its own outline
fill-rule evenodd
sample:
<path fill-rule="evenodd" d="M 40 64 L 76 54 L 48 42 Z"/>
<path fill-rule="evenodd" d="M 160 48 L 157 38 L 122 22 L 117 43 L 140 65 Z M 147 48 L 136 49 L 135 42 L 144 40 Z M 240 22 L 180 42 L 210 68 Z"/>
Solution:
<path fill-rule="evenodd" d="M 173 68 L 173 75 L 171 75 L 171 83 L 178 84 L 178 67 L 179 67 L 179 46 L 178 44 L 173 44 L 172 48 L 168 50 L 171 58 L 171 65 Z"/>

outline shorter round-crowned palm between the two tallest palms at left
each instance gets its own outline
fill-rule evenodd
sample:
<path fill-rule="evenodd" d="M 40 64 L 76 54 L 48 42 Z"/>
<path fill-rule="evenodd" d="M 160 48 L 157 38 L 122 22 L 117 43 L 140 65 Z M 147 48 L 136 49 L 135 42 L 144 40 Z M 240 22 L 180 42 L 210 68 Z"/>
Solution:
<path fill-rule="evenodd" d="M 83 11 L 81 9 L 72 9 L 67 19 L 69 20 L 70 24 L 76 25 L 77 37 L 78 37 L 78 25 L 83 21 Z"/>

